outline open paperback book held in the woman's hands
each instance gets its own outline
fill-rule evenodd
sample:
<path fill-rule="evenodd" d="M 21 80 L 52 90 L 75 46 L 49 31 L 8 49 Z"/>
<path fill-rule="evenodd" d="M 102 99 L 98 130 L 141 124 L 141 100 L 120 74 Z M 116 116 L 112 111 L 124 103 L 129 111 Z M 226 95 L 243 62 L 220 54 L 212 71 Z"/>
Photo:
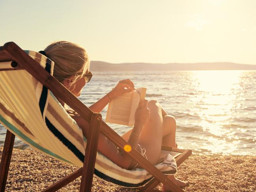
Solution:
<path fill-rule="evenodd" d="M 138 88 L 112 99 L 108 104 L 106 121 L 120 125 L 134 125 L 135 111 L 140 99 L 145 99 L 146 90 L 146 88 Z"/>

